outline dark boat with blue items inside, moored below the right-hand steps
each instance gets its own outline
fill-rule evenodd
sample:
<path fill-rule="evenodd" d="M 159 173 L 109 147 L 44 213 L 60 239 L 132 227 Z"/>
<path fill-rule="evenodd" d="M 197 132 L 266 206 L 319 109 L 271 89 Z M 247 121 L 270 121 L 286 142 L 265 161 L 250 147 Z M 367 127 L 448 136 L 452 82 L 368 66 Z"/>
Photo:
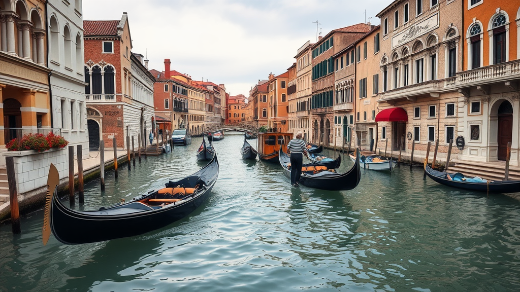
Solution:
<path fill-rule="evenodd" d="M 460 172 L 451 173 L 432 169 L 425 165 L 426 175 L 434 181 L 459 189 L 486 193 L 516 193 L 520 192 L 520 180 L 487 180 L 480 177 L 466 178 Z"/>

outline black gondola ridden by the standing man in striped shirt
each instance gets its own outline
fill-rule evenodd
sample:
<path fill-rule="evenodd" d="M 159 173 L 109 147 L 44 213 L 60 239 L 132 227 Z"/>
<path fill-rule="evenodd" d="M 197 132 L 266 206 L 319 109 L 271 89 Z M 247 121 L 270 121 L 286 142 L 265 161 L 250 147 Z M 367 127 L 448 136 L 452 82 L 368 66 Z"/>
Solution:
<path fill-rule="evenodd" d="M 283 174 L 291 179 L 291 169 L 288 167 L 290 163 L 289 156 L 280 150 L 278 159 L 283 168 Z M 354 166 L 343 174 L 335 172 L 334 169 L 327 169 L 327 167 L 324 166 L 314 166 L 313 164 L 304 164 L 303 167 L 299 183 L 314 189 L 327 191 L 352 190 L 357 187 L 361 178 L 359 154 Z"/>

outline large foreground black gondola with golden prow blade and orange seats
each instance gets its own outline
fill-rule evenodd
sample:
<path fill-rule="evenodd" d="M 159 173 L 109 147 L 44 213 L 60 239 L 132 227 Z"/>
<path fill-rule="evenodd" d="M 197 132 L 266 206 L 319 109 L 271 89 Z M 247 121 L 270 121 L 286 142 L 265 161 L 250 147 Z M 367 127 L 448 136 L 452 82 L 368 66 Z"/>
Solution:
<path fill-rule="evenodd" d="M 48 176 L 43 243 L 50 232 L 64 244 L 83 244 L 140 235 L 188 216 L 209 197 L 218 177 L 217 155 L 194 174 L 169 181 L 165 188 L 99 210 L 73 210 L 59 200 L 59 174 L 51 164 Z"/>

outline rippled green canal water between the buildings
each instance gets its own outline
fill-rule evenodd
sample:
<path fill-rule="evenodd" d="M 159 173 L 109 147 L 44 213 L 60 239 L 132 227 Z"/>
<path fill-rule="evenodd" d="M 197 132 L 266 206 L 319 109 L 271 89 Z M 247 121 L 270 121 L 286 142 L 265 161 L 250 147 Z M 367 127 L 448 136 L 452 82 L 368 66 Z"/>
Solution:
<path fill-rule="evenodd" d="M 192 174 L 202 138 L 85 186 L 98 209 Z M 256 140 L 249 140 L 256 148 Z M 42 244 L 43 211 L 0 225 L 0 291 L 518 291 L 520 193 L 450 189 L 420 167 L 361 170 L 351 191 L 291 188 L 277 164 L 213 142 L 220 173 L 189 217 L 108 242 Z M 332 151 L 328 153 L 334 155 Z M 340 171 L 352 162 L 343 157 Z M 67 203 L 68 204 L 68 203 Z"/>

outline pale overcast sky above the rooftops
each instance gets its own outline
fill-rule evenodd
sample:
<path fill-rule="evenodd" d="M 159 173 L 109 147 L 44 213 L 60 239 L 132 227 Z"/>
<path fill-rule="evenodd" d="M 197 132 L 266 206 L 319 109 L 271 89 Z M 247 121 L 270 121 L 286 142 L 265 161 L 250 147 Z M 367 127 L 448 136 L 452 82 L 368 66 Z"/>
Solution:
<path fill-rule="evenodd" d="M 132 51 L 149 69 L 172 70 L 194 80 L 224 84 L 230 95 L 249 96 L 258 79 L 279 75 L 316 31 L 375 17 L 391 0 L 83 0 L 84 20 L 120 20 L 128 14 Z M 366 15 L 365 15 L 366 10 Z M 317 26 L 316 22 L 319 21 Z"/>

